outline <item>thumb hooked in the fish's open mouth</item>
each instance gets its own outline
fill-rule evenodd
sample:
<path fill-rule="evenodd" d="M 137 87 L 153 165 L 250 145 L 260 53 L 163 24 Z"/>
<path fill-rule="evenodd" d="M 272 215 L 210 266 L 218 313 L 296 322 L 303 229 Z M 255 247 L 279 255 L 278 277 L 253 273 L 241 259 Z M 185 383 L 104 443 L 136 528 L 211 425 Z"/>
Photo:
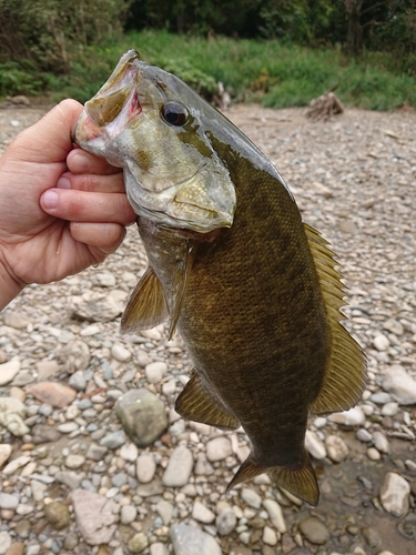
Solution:
<path fill-rule="evenodd" d="M 13 141 L 13 158 L 38 163 L 65 161 L 72 149 L 71 133 L 82 110 L 77 100 L 62 100 L 41 120 L 19 133 Z"/>

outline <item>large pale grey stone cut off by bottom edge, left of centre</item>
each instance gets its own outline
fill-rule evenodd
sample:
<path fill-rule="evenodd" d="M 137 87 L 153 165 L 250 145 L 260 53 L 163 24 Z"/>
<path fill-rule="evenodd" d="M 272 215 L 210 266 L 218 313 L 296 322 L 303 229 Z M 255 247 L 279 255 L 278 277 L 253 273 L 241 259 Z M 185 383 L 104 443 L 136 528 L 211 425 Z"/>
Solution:
<path fill-rule="evenodd" d="M 187 524 L 174 524 L 171 539 L 175 555 L 221 555 L 221 547 L 215 539 Z"/>

